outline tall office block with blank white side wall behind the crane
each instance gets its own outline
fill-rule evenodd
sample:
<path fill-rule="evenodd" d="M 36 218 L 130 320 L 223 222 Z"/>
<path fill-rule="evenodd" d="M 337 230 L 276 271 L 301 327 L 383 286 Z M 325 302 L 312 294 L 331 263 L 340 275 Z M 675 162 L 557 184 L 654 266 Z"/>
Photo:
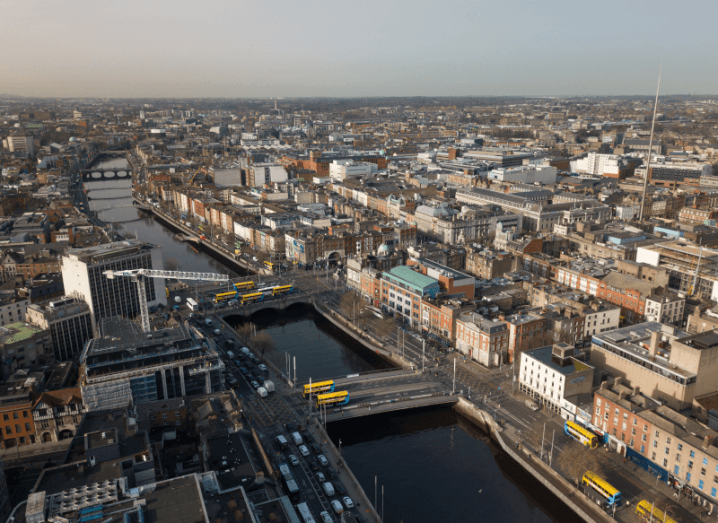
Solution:
<path fill-rule="evenodd" d="M 139 240 L 69 249 L 62 257 L 65 293 L 87 302 L 96 321 L 112 316 L 134 317 L 140 313 L 137 284 L 132 278 L 109 279 L 105 271 L 162 270 L 159 247 Z M 147 306 L 167 305 L 164 278 L 145 281 Z"/>

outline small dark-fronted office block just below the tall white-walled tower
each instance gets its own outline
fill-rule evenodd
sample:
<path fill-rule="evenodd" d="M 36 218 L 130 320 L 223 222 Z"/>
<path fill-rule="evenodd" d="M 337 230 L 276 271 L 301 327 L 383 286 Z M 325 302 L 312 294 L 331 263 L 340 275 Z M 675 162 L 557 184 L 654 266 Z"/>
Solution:
<path fill-rule="evenodd" d="M 71 360 L 95 337 L 97 326 L 89 305 L 77 298 L 65 297 L 47 305 L 30 305 L 27 321 L 49 330 L 59 361 Z"/>

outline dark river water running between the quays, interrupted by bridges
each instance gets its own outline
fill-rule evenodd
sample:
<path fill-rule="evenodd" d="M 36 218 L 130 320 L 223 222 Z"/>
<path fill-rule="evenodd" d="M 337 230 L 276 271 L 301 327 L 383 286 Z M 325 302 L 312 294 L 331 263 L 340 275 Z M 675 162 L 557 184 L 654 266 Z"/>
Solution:
<path fill-rule="evenodd" d="M 124 162 L 124 160 L 120 160 Z M 121 167 L 117 160 L 102 167 Z M 129 180 L 85 183 L 91 209 L 162 247 L 163 258 L 187 271 L 226 271 L 218 261 L 174 239 L 174 233 L 132 206 Z M 268 355 L 284 370 L 285 352 L 297 359 L 299 380 L 387 368 L 330 322 L 306 307 L 255 314 L 258 329 L 275 341 Z M 554 496 L 504 456 L 486 435 L 450 408 L 371 416 L 329 425 L 346 461 L 370 499 L 384 486 L 387 523 L 577 521 Z M 549 515 L 550 514 L 550 515 Z"/>

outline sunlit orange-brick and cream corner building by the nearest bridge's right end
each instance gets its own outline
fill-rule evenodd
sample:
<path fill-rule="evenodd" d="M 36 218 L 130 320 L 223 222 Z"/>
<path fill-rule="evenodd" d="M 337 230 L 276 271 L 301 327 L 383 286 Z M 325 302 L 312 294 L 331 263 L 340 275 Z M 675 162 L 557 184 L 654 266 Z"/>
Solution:
<path fill-rule="evenodd" d="M 456 321 L 456 350 L 485 367 L 499 367 L 509 349 L 509 329 L 475 312 L 465 312 Z"/>

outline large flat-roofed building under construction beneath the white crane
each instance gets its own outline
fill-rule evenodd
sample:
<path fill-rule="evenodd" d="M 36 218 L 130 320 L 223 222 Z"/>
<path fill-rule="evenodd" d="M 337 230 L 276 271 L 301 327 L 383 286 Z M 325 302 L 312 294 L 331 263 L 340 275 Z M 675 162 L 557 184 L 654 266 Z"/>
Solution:
<path fill-rule="evenodd" d="M 82 397 L 91 411 L 210 394 L 222 390 L 224 364 L 214 340 L 194 327 L 139 330 L 136 322 L 104 318 L 80 362 Z"/>

